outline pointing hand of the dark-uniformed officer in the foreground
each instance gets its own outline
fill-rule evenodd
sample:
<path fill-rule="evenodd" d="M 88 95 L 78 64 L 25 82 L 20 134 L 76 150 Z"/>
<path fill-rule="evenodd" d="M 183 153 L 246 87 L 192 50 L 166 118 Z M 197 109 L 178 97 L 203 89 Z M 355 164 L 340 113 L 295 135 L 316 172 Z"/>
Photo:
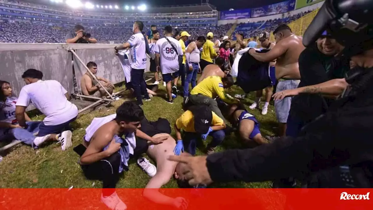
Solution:
<path fill-rule="evenodd" d="M 168 160 L 185 163 L 185 179 L 189 180 L 189 185 L 194 186 L 197 184 L 208 185 L 213 182 L 207 170 L 206 158 L 207 156 L 169 156 Z"/>

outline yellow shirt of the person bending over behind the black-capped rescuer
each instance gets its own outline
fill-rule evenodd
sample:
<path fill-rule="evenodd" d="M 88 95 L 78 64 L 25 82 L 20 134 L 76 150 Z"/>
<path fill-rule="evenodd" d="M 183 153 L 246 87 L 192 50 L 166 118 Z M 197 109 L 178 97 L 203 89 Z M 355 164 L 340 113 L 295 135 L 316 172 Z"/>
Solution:
<path fill-rule="evenodd" d="M 190 92 L 191 95 L 201 94 L 210 98 L 219 96 L 225 103 L 233 104 L 238 101 L 230 98 L 224 91 L 222 78 L 220 76 L 209 76 L 204 78 L 197 86 Z"/>

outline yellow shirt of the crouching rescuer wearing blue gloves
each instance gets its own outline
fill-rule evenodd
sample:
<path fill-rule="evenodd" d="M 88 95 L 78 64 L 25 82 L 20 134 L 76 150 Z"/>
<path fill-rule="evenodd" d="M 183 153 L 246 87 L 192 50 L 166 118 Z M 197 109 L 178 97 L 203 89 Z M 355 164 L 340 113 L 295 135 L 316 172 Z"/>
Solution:
<path fill-rule="evenodd" d="M 212 126 L 220 126 L 223 125 L 224 121 L 222 118 L 217 116 L 214 112 L 212 112 Z M 195 133 L 194 130 L 194 117 L 191 111 L 187 110 L 184 112 L 179 119 L 176 120 L 176 127 L 181 130 L 183 129 L 185 132 L 192 132 Z"/>

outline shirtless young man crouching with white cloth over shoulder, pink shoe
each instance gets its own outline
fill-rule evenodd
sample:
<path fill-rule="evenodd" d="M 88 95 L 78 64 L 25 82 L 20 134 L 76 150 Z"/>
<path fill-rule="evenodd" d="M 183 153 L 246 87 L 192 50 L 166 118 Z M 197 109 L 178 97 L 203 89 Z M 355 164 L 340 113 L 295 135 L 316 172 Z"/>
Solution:
<path fill-rule="evenodd" d="M 159 144 L 167 139 L 152 138 L 141 132 L 138 128 L 143 117 L 144 112 L 135 102 L 124 102 L 116 114 L 94 118 L 85 130 L 84 145 L 74 148 L 81 156 L 79 163 L 84 175 L 103 181 L 101 201 L 110 209 L 127 208 L 116 194 L 115 186 L 119 174 L 128 170 L 129 158 L 145 153 L 148 149 L 146 141 Z"/>

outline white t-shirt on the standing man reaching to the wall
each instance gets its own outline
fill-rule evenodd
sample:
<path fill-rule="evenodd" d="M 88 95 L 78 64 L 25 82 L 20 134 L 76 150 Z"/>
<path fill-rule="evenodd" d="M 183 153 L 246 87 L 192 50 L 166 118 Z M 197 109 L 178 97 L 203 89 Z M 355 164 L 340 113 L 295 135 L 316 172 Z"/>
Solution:
<path fill-rule="evenodd" d="M 147 56 L 144 35 L 141 33 L 134 34 L 127 42 L 131 44 L 131 67 L 133 69 L 145 69 Z"/>

